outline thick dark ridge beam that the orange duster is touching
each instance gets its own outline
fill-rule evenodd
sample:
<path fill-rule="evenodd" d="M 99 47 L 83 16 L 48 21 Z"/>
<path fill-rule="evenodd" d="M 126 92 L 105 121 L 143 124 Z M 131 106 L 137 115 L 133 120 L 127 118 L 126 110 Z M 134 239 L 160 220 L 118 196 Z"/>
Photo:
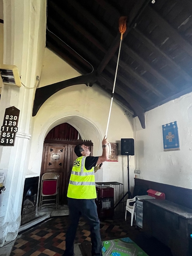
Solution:
<path fill-rule="evenodd" d="M 103 2 L 103 0 L 97 0 L 97 1 L 99 1 L 100 3 Z M 150 1 L 151 0 L 142 0 L 142 1 L 137 0 L 135 5 L 133 6 L 132 10 L 130 11 L 129 22 L 127 23 L 127 29 L 126 29 L 125 33 L 123 34 L 123 38 L 125 38 L 126 35 L 129 33 L 129 31 L 131 30 L 131 28 L 133 26 L 133 23 L 137 21 L 138 17 L 141 15 L 141 13 L 145 9 L 145 7 L 149 4 Z M 107 5 L 109 5 L 109 4 L 107 4 Z M 119 16 L 119 18 L 120 18 L 120 16 Z M 121 37 L 120 33 L 118 33 L 117 36 L 115 37 L 115 40 L 111 44 L 109 50 L 105 54 L 105 57 L 101 61 L 101 64 L 97 68 L 98 74 L 101 74 L 103 72 L 103 70 L 105 69 L 105 67 L 107 66 L 107 64 L 109 63 L 111 58 L 114 56 L 115 52 L 117 51 L 119 44 L 120 44 L 120 37 Z"/>

